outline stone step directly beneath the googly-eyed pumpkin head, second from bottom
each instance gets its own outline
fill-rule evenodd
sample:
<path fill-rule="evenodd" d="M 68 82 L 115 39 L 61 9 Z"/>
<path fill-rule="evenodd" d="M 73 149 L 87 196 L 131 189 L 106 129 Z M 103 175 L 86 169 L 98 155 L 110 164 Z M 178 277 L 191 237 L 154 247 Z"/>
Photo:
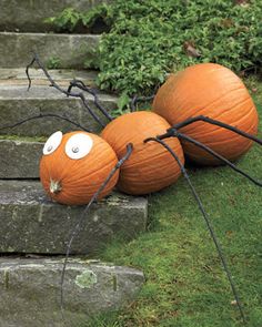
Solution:
<path fill-rule="evenodd" d="M 145 231 L 147 206 L 112 193 L 92 206 L 71 253 L 94 255 L 115 237 L 132 239 Z M 0 181 L 0 253 L 64 254 L 84 207 L 49 201 L 38 181 Z"/>

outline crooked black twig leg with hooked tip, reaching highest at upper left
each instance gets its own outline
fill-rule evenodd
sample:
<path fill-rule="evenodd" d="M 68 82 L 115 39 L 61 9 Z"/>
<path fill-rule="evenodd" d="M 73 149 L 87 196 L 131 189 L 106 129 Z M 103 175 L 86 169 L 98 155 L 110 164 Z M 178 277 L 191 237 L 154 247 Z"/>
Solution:
<path fill-rule="evenodd" d="M 88 110 L 88 112 L 91 114 L 91 116 L 102 126 L 104 127 L 105 124 L 100 120 L 100 117 L 93 112 L 93 110 L 90 108 L 90 105 L 88 104 L 88 101 L 85 99 L 85 96 L 83 95 L 83 93 L 74 93 L 74 92 L 68 92 L 67 90 L 63 90 L 62 88 L 60 88 L 58 85 L 58 83 L 52 79 L 52 76 L 49 74 L 49 72 L 46 70 L 46 68 L 43 67 L 42 62 L 40 61 L 39 57 L 37 53 L 34 53 L 34 57 L 32 59 L 32 61 L 27 65 L 26 69 L 26 73 L 28 76 L 28 91 L 31 88 L 31 78 L 29 75 L 29 69 L 30 67 L 33 65 L 33 63 L 37 63 L 40 69 L 43 71 L 44 75 L 47 76 L 47 79 L 49 80 L 49 82 L 51 83 L 51 86 L 53 86 L 54 89 L 57 89 L 58 91 L 60 91 L 61 93 L 66 94 L 67 96 L 72 96 L 72 98 L 79 98 L 82 100 L 84 108 Z"/>

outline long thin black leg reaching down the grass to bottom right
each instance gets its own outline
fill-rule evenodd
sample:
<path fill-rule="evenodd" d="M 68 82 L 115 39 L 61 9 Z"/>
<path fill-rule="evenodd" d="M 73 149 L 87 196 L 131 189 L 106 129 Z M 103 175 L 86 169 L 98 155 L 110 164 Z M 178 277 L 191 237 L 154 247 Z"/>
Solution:
<path fill-rule="evenodd" d="M 230 286 L 231 286 L 231 289 L 232 289 L 232 293 L 233 293 L 234 299 L 235 299 L 236 305 L 238 305 L 238 307 L 239 307 L 240 315 L 241 315 L 241 317 L 242 317 L 242 319 L 243 319 L 243 323 L 246 324 L 246 319 L 245 319 L 245 315 L 244 315 L 244 311 L 243 311 L 243 308 L 242 308 L 242 305 L 241 305 L 241 302 L 240 302 L 240 297 L 239 297 L 239 294 L 238 294 L 236 288 L 235 288 L 235 286 L 234 286 L 234 283 L 233 283 L 233 279 L 232 279 L 232 275 L 231 275 L 230 269 L 229 269 L 229 267 L 228 267 L 228 263 L 226 263 L 225 257 L 224 257 L 224 255 L 223 255 L 223 252 L 222 252 L 221 245 L 220 245 L 220 243 L 219 243 L 219 241 L 218 241 L 218 238 L 216 238 L 216 235 L 215 235 L 215 233 L 214 233 L 214 231 L 213 231 L 213 227 L 212 227 L 212 225 L 211 225 L 211 223 L 210 223 L 209 216 L 208 216 L 208 214 L 206 214 L 206 212 L 205 212 L 205 210 L 204 210 L 204 207 L 203 207 L 202 201 L 200 200 L 200 197 L 199 197 L 199 195 L 198 195 L 198 193 L 196 193 L 196 191 L 195 191 L 193 184 L 191 183 L 191 180 L 190 180 L 190 177 L 189 177 L 189 174 L 187 173 L 187 170 L 185 170 L 184 166 L 182 165 L 182 163 L 181 163 L 181 161 L 179 160 L 178 155 L 173 152 L 173 150 L 172 150 L 172 149 L 171 149 L 171 147 L 170 147 L 164 141 L 162 141 L 162 140 L 160 140 L 160 139 L 158 139 L 158 137 L 150 137 L 150 139 L 147 139 L 144 142 L 149 142 L 149 141 L 154 141 L 154 142 L 160 143 L 163 147 L 165 147 L 165 149 L 170 152 L 170 154 L 174 157 L 174 160 L 175 160 L 177 163 L 179 164 L 179 167 L 180 167 L 180 170 L 181 170 L 181 172 L 182 172 L 184 178 L 187 180 L 187 182 L 188 182 L 188 184 L 189 184 L 189 187 L 190 187 L 190 190 L 191 190 L 191 192 L 192 192 L 192 194 L 193 194 L 193 196 L 194 196 L 194 198 L 195 198 L 195 201 L 196 201 L 196 203 L 198 203 L 199 210 L 200 210 L 201 213 L 202 213 L 202 216 L 203 216 L 203 218 L 204 218 L 204 221 L 205 221 L 205 224 L 206 224 L 206 226 L 208 226 L 208 229 L 209 229 L 209 232 L 210 232 L 210 235 L 211 235 L 211 237 L 212 237 L 212 239 L 213 239 L 213 243 L 214 243 L 215 248 L 216 248 L 216 251 L 218 251 L 218 254 L 219 254 L 219 257 L 220 257 L 220 259 L 221 259 L 222 266 L 223 266 L 224 272 L 225 272 L 225 274 L 226 274 L 226 277 L 228 277 L 228 279 L 229 279 L 229 283 L 230 283 Z"/>

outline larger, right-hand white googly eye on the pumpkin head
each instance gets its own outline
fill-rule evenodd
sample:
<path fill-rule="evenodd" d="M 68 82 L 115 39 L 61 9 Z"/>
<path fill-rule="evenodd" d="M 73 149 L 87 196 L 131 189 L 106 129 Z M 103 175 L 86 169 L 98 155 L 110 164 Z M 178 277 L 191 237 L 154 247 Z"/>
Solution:
<path fill-rule="evenodd" d="M 81 159 L 89 154 L 93 140 L 83 133 L 72 135 L 66 144 L 66 153 L 71 159 Z"/>

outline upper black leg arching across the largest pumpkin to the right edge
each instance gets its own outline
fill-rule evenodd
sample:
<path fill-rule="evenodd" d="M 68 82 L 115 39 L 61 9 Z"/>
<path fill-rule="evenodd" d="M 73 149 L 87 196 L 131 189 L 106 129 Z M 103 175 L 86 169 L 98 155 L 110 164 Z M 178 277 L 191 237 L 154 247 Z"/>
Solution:
<path fill-rule="evenodd" d="M 204 116 L 204 115 L 198 115 L 195 117 L 190 117 L 190 119 L 187 119 L 185 121 L 183 121 L 181 123 L 174 124 L 172 127 L 170 127 L 168 130 L 168 132 L 165 134 L 161 135 L 159 139 L 165 139 L 167 136 L 172 136 L 173 132 L 175 133 L 178 130 L 180 130 L 180 129 L 182 129 L 184 126 L 188 126 L 188 125 L 190 125 L 192 123 L 200 122 L 200 121 L 212 124 L 212 125 L 223 127 L 225 130 L 230 130 L 230 131 L 232 131 L 232 132 L 234 132 L 234 133 L 236 133 L 236 134 L 239 134 L 239 135 L 241 135 L 243 137 L 252 140 L 255 143 L 259 143 L 260 145 L 262 145 L 262 140 L 260 140 L 259 137 L 256 137 L 256 136 L 254 136 L 252 134 L 245 133 L 245 132 L 243 132 L 243 131 L 241 131 L 241 130 L 239 130 L 239 129 L 236 129 L 234 126 L 231 126 L 231 125 L 222 123 L 220 121 L 210 119 L 210 117 Z M 164 136 L 164 135 L 167 135 L 167 136 Z"/>

